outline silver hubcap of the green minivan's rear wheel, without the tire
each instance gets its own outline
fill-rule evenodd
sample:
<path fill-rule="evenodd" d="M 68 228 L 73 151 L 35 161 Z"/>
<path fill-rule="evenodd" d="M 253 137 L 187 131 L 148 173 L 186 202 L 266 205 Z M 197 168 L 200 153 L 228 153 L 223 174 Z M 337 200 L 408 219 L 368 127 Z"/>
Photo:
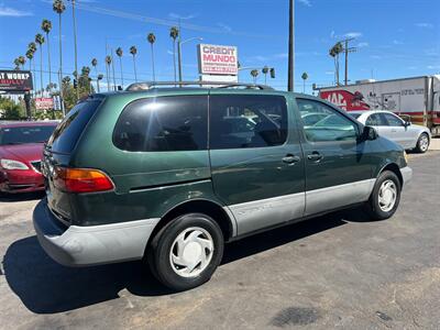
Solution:
<path fill-rule="evenodd" d="M 209 232 L 199 227 L 191 227 L 174 240 L 169 263 L 177 275 L 196 277 L 209 265 L 212 254 L 213 240 Z"/>

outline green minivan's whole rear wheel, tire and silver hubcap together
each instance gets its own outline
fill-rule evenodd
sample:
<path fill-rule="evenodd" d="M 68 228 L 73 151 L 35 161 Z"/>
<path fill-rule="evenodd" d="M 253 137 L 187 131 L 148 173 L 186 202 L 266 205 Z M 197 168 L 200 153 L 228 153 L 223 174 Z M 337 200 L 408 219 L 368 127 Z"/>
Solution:
<path fill-rule="evenodd" d="M 201 213 L 180 216 L 165 226 L 147 248 L 153 275 L 174 290 L 209 280 L 223 256 L 220 227 Z"/>

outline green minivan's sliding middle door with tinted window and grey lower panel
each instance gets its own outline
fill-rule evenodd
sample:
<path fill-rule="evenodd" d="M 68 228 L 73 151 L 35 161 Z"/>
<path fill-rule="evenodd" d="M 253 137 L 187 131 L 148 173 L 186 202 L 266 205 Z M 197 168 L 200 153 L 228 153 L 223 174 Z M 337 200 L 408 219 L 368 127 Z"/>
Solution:
<path fill-rule="evenodd" d="M 290 105 L 283 95 L 210 94 L 213 188 L 239 234 L 304 215 L 304 158 Z"/>

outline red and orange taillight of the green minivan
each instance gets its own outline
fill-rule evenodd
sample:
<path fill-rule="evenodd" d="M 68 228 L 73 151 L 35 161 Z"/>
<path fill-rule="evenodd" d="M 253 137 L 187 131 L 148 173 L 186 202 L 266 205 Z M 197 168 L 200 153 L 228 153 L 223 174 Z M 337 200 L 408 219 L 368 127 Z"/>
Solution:
<path fill-rule="evenodd" d="M 97 193 L 113 190 L 111 179 L 91 168 L 55 168 L 54 185 L 66 193 Z"/>

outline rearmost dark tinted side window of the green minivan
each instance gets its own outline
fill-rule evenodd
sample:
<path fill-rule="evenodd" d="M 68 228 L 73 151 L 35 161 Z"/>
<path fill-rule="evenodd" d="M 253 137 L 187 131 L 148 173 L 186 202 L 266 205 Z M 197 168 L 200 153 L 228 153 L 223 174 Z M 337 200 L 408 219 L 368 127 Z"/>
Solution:
<path fill-rule="evenodd" d="M 136 100 L 113 131 L 117 147 L 130 152 L 206 150 L 208 97 L 174 96 Z"/>

